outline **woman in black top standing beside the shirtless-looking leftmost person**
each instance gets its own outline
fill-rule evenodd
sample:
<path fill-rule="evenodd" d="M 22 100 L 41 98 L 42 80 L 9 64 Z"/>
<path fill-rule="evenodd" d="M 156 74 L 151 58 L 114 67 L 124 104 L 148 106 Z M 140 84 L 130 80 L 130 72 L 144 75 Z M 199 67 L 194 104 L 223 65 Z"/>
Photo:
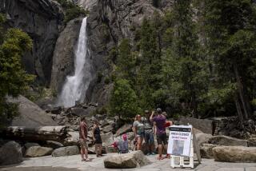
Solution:
<path fill-rule="evenodd" d="M 98 127 L 98 121 L 94 121 L 93 140 L 95 143 L 95 153 L 97 154 L 97 157 L 102 157 L 102 137 L 101 130 Z"/>

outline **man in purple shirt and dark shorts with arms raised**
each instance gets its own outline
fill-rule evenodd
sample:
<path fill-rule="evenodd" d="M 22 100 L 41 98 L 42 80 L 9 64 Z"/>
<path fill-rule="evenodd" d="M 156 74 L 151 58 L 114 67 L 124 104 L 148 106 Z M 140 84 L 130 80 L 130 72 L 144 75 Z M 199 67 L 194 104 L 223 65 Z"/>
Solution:
<path fill-rule="evenodd" d="M 158 160 L 162 160 L 162 151 L 164 148 L 167 149 L 167 135 L 166 135 L 166 116 L 162 114 L 162 109 L 157 109 L 157 115 L 154 116 L 154 112 L 150 116 L 150 121 L 156 125 L 156 134 L 158 140 Z M 166 157 L 169 157 L 166 155 Z"/>

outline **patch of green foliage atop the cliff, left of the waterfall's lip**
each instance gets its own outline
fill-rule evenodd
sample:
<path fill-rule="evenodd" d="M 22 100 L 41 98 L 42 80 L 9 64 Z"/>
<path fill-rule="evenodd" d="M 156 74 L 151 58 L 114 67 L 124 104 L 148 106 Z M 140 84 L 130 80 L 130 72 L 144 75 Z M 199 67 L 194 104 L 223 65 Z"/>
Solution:
<path fill-rule="evenodd" d="M 64 22 L 70 22 L 70 20 L 74 18 L 78 18 L 80 16 L 86 16 L 89 14 L 88 11 L 82 9 L 80 6 L 75 5 L 73 2 L 68 0 L 58 0 L 58 3 L 66 10 Z"/>

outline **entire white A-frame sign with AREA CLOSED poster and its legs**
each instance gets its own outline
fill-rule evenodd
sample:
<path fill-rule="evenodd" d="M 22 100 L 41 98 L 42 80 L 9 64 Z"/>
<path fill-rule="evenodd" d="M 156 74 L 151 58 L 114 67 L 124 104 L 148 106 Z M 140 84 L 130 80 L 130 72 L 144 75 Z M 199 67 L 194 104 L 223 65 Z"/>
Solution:
<path fill-rule="evenodd" d="M 194 136 L 192 125 L 172 125 L 170 126 L 170 135 L 168 150 L 170 153 L 170 167 L 194 168 L 194 149 L 198 156 L 198 162 L 201 163 L 201 156 Z M 184 158 L 189 157 L 189 164 L 185 164 Z M 175 163 L 178 158 L 178 164 Z"/>

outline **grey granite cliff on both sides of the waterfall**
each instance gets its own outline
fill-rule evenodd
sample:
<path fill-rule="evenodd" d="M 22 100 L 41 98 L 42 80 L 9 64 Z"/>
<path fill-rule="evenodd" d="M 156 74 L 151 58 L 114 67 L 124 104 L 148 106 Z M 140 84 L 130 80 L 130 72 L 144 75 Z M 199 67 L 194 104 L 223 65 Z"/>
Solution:
<path fill-rule="evenodd" d="M 87 90 L 86 102 L 105 105 L 109 101 L 112 85 L 107 57 L 110 50 L 123 38 L 134 40 L 135 30 L 143 18 L 150 18 L 154 11 L 163 14 L 172 1 L 162 0 L 154 6 L 152 0 L 72 0 L 90 10 L 88 36 L 92 59 L 93 81 Z M 74 49 L 81 26 L 81 18 L 66 24 L 61 6 L 54 0 L 2 0 L 0 12 L 7 16 L 7 27 L 18 27 L 33 38 L 34 47 L 22 62 L 38 81 L 60 92 L 66 76 L 74 71 Z M 98 79 L 98 75 L 102 79 Z"/>

